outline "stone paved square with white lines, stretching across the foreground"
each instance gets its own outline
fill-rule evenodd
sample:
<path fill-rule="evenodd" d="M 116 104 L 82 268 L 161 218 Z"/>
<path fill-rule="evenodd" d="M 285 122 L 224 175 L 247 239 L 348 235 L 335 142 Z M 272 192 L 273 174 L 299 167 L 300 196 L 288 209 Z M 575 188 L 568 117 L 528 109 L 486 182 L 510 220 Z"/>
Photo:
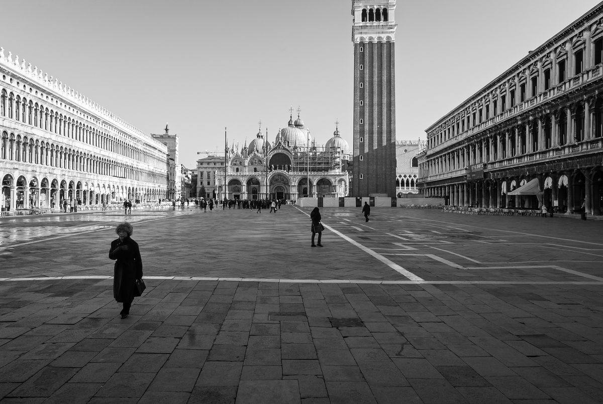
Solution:
<path fill-rule="evenodd" d="M 0 400 L 603 399 L 603 222 L 322 208 L 311 248 L 308 214 L 1 218 Z M 147 290 L 121 319 L 124 220 Z"/>

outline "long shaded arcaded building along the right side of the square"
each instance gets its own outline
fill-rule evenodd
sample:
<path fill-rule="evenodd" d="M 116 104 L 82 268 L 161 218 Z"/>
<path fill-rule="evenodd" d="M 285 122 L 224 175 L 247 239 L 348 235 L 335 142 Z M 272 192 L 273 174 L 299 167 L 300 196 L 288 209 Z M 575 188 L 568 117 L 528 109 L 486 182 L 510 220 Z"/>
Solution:
<path fill-rule="evenodd" d="M 450 205 L 602 214 L 602 90 L 599 4 L 426 129 L 421 189 Z M 534 178 L 541 201 L 507 195 Z"/>

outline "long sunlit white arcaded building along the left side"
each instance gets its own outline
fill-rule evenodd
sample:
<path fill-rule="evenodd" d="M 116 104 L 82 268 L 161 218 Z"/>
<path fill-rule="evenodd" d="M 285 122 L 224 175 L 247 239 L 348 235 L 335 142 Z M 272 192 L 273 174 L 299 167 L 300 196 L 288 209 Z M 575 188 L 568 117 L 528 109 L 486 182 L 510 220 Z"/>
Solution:
<path fill-rule="evenodd" d="M 0 207 L 165 197 L 165 145 L 0 48 Z"/>

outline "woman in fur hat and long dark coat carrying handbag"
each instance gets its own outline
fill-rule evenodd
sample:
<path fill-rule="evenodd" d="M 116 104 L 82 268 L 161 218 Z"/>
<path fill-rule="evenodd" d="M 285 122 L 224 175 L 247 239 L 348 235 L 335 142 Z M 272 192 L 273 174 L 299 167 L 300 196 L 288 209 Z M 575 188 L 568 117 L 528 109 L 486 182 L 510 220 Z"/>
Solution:
<path fill-rule="evenodd" d="M 126 318 L 130 314 L 130 306 L 134 296 L 139 296 L 136 289 L 136 280 L 142 279 L 142 259 L 138 243 L 130 239 L 132 225 L 121 223 L 115 232 L 119 239 L 111 242 L 109 258 L 115 262 L 115 274 L 113 276 L 113 297 L 118 303 L 123 303 L 124 308 L 119 314 Z"/>

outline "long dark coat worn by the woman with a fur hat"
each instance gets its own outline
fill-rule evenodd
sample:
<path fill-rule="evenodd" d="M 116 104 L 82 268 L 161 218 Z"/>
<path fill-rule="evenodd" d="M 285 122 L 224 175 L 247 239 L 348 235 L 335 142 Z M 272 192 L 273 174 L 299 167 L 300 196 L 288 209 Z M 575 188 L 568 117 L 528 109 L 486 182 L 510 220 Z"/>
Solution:
<path fill-rule="evenodd" d="M 127 245 L 128 251 L 118 248 Z M 127 237 L 123 242 L 113 240 L 109 250 L 109 258 L 115 261 L 113 274 L 113 297 L 119 303 L 130 302 L 134 296 L 139 296 L 136 290 L 136 280 L 142 278 L 142 258 L 138 243 Z"/>

